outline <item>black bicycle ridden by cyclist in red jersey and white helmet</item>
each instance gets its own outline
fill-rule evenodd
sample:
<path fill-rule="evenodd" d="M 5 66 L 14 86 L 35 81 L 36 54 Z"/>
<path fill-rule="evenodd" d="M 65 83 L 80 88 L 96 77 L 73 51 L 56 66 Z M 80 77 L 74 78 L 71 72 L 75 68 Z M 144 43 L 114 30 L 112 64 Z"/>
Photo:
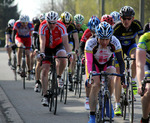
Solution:
<path fill-rule="evenodd" d="M 46 56 L 50 59 L 51 66 L 48 79 L 48 103 L 49 111 L 56 115 L 57 111 L 57 96 L 58 96 L 58 84 L 57 84 L 57 73 L 56 73 L 56 58 L 67 58 L 66 56 Z"/>

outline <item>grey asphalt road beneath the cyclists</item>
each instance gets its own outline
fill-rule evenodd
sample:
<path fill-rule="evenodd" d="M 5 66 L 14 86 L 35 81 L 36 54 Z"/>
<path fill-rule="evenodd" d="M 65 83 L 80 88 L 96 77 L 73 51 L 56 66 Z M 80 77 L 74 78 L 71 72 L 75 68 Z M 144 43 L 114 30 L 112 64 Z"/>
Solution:
<path fill-rule="evenodd" d="M 23 90 L 21 78 L 14 80 L 13 71 L 7 65 L 7 54 L 0 51 L 0 123 L 87 123 L 89 111 L 84 108 L 85 90 L 78 98 L 69 92 L 67 104 L 58 102 L 57 114 L 53 115 L 47 107 L 41 105 L 41 93 L 33 91 L 34 81 L 26 81 Z M 84 84 L 83 84 L 84 86 Z M 140 96 L 135 96 L 134 123 L 142 116 Z M 114 123 L 129 123 L 115 116 Z"/>

